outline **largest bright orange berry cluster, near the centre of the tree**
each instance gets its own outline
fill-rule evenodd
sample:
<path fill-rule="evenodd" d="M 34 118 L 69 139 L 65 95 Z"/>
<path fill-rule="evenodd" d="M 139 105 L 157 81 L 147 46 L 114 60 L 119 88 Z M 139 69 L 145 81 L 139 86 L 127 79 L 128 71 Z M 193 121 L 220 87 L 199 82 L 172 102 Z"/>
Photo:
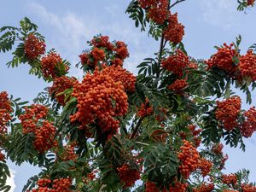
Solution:
<path fill-rule="evenodd" d="M 87 73 L 81 83 L 73 85 L 73 96 L 77 98 L 77 113 L 70 116 L 71 122 L 79 121 L 80 129 L 88 130 L 96 123 L 102 132 L 115 133 L 119 128 L 118 116 L 127 113 L 128 102 L 124 86 L 115 82 L 108 73 L 99 68 L 93 74 Z"/>

